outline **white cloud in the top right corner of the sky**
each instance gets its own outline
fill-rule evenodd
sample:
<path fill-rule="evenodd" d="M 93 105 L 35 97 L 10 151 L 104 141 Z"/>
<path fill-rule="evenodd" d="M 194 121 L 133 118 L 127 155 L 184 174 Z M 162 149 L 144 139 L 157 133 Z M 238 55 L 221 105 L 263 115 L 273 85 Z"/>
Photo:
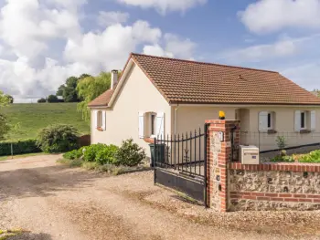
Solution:
<path fill-rule="evenodd" d="M 320 27 L 320 0 L 260 0 L 239 13 L 242 23 L 254 33 L 284 27 Z"/>

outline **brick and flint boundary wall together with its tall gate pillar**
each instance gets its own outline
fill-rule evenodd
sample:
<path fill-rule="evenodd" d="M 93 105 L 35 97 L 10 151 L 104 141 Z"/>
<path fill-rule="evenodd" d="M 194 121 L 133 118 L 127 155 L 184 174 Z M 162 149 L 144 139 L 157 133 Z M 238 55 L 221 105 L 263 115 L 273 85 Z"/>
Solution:
<path fill-rule="evenodd" d="M 231 157 L 232 135 L 233 146 L 238 151 L 240 122 L 206 122 L 209 207 L 220 212 L 320 210 L 320 164 L 265 162 L 243 165 L 238 162 L 238 154 Z M 223 139 L 219 139 L 221 132 Z"/>

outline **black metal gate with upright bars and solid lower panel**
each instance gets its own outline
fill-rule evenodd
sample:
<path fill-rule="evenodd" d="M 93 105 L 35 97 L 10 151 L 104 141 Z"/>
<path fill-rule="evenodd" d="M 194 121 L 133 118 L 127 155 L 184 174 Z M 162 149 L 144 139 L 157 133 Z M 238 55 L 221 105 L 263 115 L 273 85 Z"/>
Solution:
<path fill-rule="evenodd" d="M 207 203 L 207 125 L 155 139 L 155 183 Z"/>

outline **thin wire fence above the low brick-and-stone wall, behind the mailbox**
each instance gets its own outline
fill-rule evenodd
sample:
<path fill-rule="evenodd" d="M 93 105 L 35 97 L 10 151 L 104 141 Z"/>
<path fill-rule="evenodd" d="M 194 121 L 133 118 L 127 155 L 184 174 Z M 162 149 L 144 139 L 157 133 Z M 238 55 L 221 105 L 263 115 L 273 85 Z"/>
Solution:
<path fill-rule="evenodd" d="M 260 151 L 278 150 L 279 140 L 283 139 L 285 148 L 295 148 L 311 144 L 320 144 L 318 131 L 240 131 L 240 145 L 254 145 Z"/>

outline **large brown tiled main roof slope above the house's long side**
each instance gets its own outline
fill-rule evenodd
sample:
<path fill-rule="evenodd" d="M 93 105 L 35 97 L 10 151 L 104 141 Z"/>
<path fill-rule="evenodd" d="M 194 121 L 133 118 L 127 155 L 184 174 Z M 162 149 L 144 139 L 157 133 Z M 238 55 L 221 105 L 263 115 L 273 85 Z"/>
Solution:
<path fill-rule="evenodd" d="M 314 94 L 278 72 L 141 54 L 131 57 L 170 103 L 320 105 Z"/>

